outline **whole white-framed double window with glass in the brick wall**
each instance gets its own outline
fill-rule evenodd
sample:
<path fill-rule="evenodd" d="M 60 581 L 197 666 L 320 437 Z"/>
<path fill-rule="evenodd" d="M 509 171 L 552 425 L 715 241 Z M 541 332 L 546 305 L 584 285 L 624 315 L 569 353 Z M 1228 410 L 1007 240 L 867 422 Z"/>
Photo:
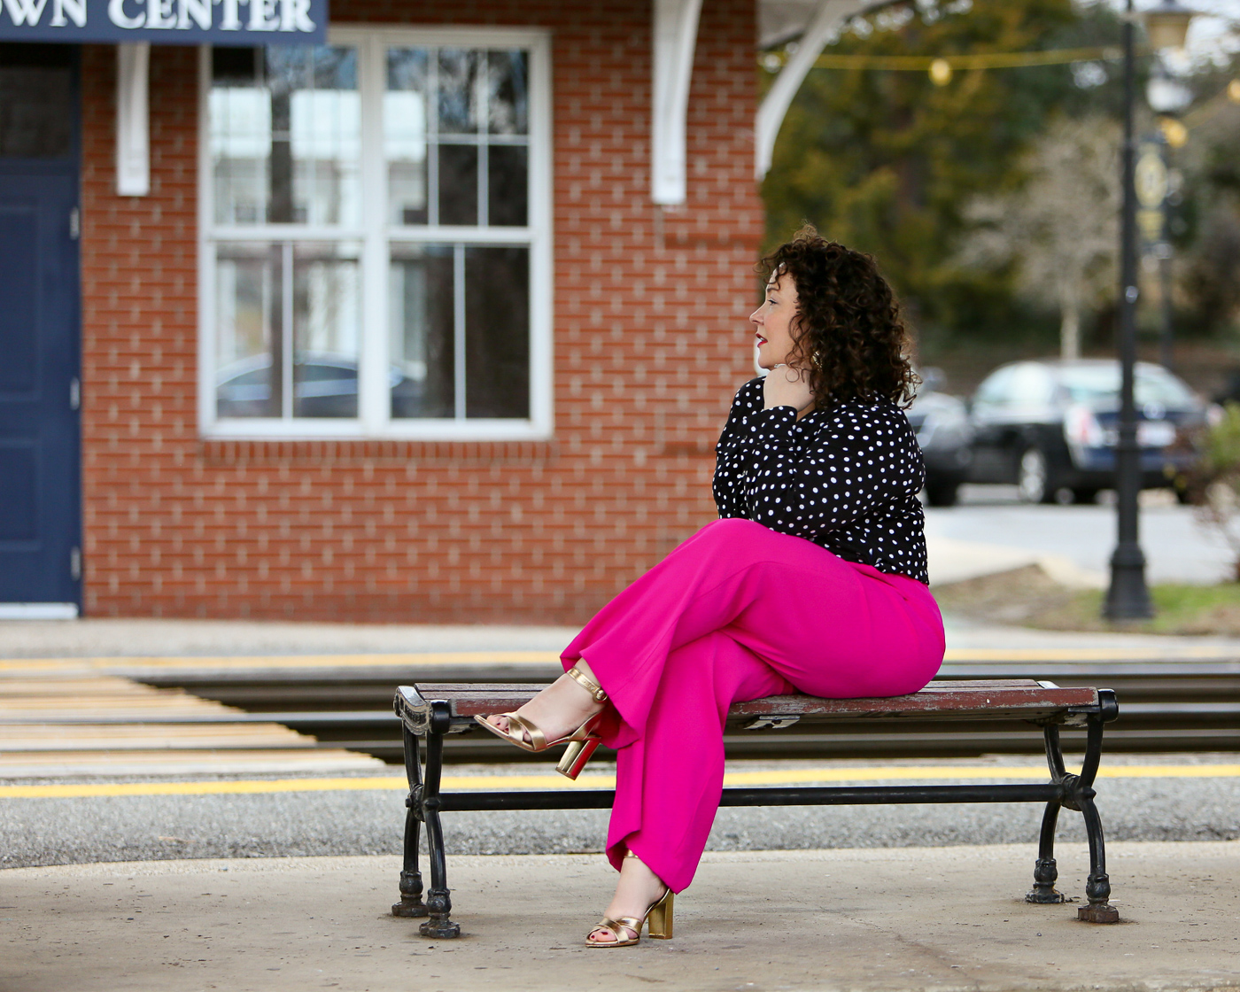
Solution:
<path fill-rule="evenodd" d="M 546 38 L 339 29 L 202 77 L 205 433 L 549 434 Z"/>

